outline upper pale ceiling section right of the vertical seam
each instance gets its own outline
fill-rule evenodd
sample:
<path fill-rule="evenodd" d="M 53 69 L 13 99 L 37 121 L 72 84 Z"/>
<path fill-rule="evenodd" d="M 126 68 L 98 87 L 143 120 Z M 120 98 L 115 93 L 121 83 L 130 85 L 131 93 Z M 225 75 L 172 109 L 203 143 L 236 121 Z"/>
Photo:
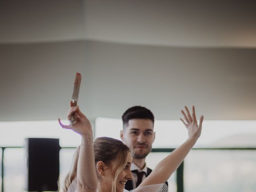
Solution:
<path fill-rule="evenodd" d="M 255 1 L 91 0 L 85 8 L 89 39 L 164 46 L 256 46 Z"/>

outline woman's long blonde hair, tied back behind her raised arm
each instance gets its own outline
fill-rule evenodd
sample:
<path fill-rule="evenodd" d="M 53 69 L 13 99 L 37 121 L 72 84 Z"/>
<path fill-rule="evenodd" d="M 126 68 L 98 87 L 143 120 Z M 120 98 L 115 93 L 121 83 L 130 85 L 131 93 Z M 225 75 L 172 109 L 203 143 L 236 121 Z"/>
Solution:
<path fill-rule="evenodd" d="M 104 162 L 104 164 L 106 164 L 107 166 L 112 166 L 111 192 L 116 192 L 117 177 L 126 166 L 128 153 L 130 152 L 128 146 L 126 146 L 122 141 L 114 138 L 99 137 L 94 140 L 93 148 L 94 148 L 95 167 L 99 161 Z M 70 172 L 68 172 L 68 174 L 64 178 L 62 192 L 67 192 L 68 187 L 70 186 L 72 181 L 76 178 L 79 151 L 80 151 L 80 146 L 78 146 L 78 148 L 76 149 L 76 152 L 74 153 Z M 98 176 L 98 180 L 100 180 L 100 174 L 98 174 L 97 171 L 96 173 Z"/>

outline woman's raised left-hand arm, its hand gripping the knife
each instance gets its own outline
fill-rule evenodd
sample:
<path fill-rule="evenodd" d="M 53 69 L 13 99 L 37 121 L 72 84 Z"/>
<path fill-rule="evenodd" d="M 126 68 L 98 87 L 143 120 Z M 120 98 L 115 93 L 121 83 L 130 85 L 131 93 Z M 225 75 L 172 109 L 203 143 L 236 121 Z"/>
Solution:
<path fill-rule="evenodd" d="M 68 110 L 68 119 L 70 119 L 71 114 L 74 113 L 76 123 L 72 126 L 62 127 L 72 129 L 82 137 L 77 165 L 77 192 L 96 192 L 98 180 L 94 162 L 92 126 L 86 116 L 80 111 L 79 107 L 73 107 L 71 102 L 71 108 Z"/>

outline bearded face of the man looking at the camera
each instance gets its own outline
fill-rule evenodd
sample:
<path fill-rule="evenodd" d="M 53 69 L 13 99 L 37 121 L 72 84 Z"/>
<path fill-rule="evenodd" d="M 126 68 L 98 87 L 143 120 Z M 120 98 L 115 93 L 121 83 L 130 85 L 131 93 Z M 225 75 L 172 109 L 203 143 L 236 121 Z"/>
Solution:
<path fill-rule="evenodd" d="M 133 158 L 146 158 L 155 140 L 154 124 L 150 119 L 130 119 L 120 137 L 130 148 Z"/>

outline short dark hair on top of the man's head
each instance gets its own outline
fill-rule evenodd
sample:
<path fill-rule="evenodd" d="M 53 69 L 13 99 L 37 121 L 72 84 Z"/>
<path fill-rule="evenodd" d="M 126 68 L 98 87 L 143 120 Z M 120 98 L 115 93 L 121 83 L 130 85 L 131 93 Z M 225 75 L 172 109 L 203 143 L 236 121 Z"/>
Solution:
<path fill-rule="evenodd" d="M 153 113 L 146 107 L 142 106 L 133 106 L 124 112 L 122 115 L 124 128 L 128 125 L 128 121 L 130 119 L 150 119 L 152 120 L 153 124 L 155 121 Z"/>

